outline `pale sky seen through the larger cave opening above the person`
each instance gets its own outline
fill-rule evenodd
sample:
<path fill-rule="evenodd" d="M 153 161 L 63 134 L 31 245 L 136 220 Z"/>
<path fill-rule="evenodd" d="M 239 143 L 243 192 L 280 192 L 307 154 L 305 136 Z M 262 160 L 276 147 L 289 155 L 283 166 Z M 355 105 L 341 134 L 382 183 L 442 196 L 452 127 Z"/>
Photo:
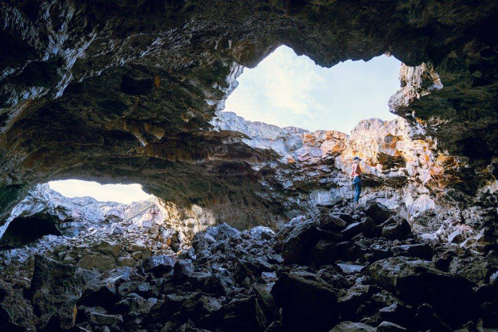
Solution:
<path fill-rule="evenodd" d="M 387 101 L 399 89 L 400 66 L 396 58 L 382 55 L 322 68 L 280 46 L 256 68 L 244 69 L 225 111 L 280 127 L 349 134 L 362 119 L 395 117 Z"/>

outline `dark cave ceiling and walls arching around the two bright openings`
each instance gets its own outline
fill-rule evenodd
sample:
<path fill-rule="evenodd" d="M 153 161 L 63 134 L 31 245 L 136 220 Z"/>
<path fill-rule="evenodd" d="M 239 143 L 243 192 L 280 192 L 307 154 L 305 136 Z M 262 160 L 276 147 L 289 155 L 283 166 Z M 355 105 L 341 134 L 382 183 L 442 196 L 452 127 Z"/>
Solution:
<path fill-rule="evenodd" d="M 497 8 L 497 1 L 3 1 L 0 217 L 36 183 L 79 178 L 141 183 L 187 208 L 223 206 L 217 216 L 238 226 L 285 220 L 289 207 L 265 186 L 264 169 L 251 167 L 279 156 L 212 123 L 242 66 L 280 44 L 327 67 L 383 53 L 403 61 L 391 111 L 410 123 L 413 138 L 463 158 L 468 177 L 457 189 L 477 192 L 480 174 L 496 175 Z"/>

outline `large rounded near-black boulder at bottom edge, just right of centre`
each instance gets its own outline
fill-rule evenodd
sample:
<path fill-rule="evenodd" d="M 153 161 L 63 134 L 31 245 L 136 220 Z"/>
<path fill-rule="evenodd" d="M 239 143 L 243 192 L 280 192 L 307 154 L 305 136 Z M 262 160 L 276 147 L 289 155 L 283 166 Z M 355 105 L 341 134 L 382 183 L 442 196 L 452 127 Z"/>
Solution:
<path fill-rule="evenodd" d="M 290 289 L 293 291 L 289 292 Z M 336 291 L 310 272 L 282 273 L 271 295 L 282 308 L 282 323 L 293 329 L 316 330 L 334 324 L 338 318 Z"/>

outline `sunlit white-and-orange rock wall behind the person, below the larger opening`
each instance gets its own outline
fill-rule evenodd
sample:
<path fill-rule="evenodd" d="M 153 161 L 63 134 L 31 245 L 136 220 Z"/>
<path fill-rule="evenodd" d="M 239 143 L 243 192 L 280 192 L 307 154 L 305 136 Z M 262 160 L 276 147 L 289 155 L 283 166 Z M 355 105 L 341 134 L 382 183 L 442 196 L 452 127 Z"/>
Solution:
<path fill-rule="evenodd" d="M 488 226 L 497 218 L 496 178 L 484 173 L 476 182 L 469 159 L 441 152 L 436 141 L 417 136 L 417 128 L 403 118 L 362 120 L 351 135 L 279 128 L 233 112 L 222 113 L 220 123 L 247 134 L 248 145 L 279 154 L 278 162 L 259 167 L 271 174 L 262 183 L 283 202 L 289 217 L 320 214 L 324 207 L 351 201 L 351 164 L 359 156 L 361 202 L 376 200 L 408 219 L 422 237 L 452 241 L 458 231 L 462 242 L 494 229 Z M 462 190 L 471 185 L 478 186 L 474 195 Z"/>

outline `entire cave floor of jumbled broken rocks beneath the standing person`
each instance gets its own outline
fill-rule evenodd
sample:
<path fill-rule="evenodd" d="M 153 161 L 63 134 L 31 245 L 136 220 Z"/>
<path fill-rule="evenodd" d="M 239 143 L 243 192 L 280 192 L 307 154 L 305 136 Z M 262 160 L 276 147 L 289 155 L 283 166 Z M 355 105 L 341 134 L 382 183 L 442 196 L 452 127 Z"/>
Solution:
<path fill-rule="evenodd" d="M 2 250 L 0 331 L 498 327 L 498 254 L 485 236 L 422 241 L 374 201 L 276 233 L 223 223 L 177 253 L 137 229 L 114 223 Z"/>

